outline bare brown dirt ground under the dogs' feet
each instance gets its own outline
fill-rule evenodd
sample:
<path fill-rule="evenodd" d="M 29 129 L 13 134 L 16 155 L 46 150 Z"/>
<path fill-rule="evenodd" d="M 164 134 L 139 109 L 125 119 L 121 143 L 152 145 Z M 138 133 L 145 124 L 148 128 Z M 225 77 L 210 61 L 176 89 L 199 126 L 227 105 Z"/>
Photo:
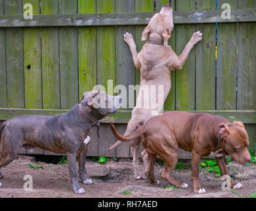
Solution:
<path fill-rule="evenodd" d="M 34 168 L 31 168 L 34 164 Z M 86 165 L 98 165 L 98 162 L 87 160 Z M 188 189 L 167 188 L 171 186 L 165 180 L 160 179 L 160 173 L 163 170 L 162 164 L 158 162 L 155 166 L 156 178 L 160 181 L 160 185 L 150 185 L 147 180 L 135 181 L 133 179 L 133 163 L 130 159 L 112 159 L 107 164 L 110 166 L 110 172 L 106 177 L 92 177 L 94 184 L 80 185 L 86 193 L 84 195 L 76 195 L 72 191 L 69 171 L 67 164 L 46 164 L 45 162 L 31 162 L 23 158 L 13 161 L 6 167 L 1 169 L 3 179 L 3 187 L 0 187 L 0 197 L 39 197 L 39 198 L 65 198 L 65 197 L 248 197 L 251 193 L 256 192 L 256 165 L 249 166 L 239 165 L 230 162 L 228 168 L 230 175 L 236 181 L 243 184 L 242 189 L 235 191 L 222 191 L 220 181 L 214 177 L 214 173 L 208 173 L 204 169 L 200 171 L 201 185 L 206 189 L 207 193 L 203 195 L 193 193 L 193 185 L 191 182 L 191 166 L 186 164 L 185 168 L 175 169 L 173 175 L 179 181 L 183 181 L 189 185 Z M 30 167 L 29 167 L 30 166 Z M 142 168 L 142 164 L 140 164 Z M 24 175 L 32 175 L 33 190 L 24 191 L 23 186 L 26 181 L 23 180 Z M 126 194 L 126 195 L 125 195 Z"/>

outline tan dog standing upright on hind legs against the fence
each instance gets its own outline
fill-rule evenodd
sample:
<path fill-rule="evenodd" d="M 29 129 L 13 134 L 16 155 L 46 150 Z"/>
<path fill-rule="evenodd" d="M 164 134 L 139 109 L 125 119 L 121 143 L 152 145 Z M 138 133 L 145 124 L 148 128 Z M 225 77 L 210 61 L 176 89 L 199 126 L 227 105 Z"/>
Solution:
<path fill-rule="evenodd" d="M 138 71 L 141 72 L 141 83 L 139 95 L 137 97 L 137 105 L 133 108 L 131 120 L 127 125 L 127 131 L 125 136 L 131 134 L 139 125 L 143 125 L 144 121 L 154 115 L 159 114 L 164 101 L 166 100 L 171 89 L 171 73 L 170 71 L 181 70 L 188 55 L 189 51 L 193 48 L 197 42 L 203 39 L 201 32 L 195 32 L 185 45 L 181 55 L 177 56 L 172 50 L 172 47 L 168 45 L 168 39 L 171 37 L 172 29 L 174 28 L 173 11 L 172 7 L 165 5 L 162 7 L 160 13 L 156 13 L 150 19 L 148 26 L 143 31 L 141 40 L 148 40 L 144 44 L 143 49 L 138 53 L 136 49 L 133 36 L 129 33 L 124 35 L 124 41 L 129 45 L 131 54 L 133 57 L 133 63 Z M 149 92 L 145 92 L 143 87 L 148 87 Z M 154 88 L 152 88 L 154 87 Z M 163 93 L 160 92 L 160 88 L 163 87 Z M 154 93 L 152 93 L 154 92 Z M 157 108 L 148 102 L 151 102 L 152 94 L 156 96 L 158 100 Z M 138 105 L 138 102 L 141 102 Z M 149 107 L 144 106 L 149 104 Z M 148 166 L 147 153 L 144 150 L 142 152 L 144 173 L 139 173 L 139 160 L 138 150 L 141 138 L 138 137 L 130 142 L 131 150 L 133 152 L 133 167 L 135 171 L 135 179 L 145 179 L 146 169 Z M 121 144 L 117 141 L 108 150 L 112 150 Z"/>

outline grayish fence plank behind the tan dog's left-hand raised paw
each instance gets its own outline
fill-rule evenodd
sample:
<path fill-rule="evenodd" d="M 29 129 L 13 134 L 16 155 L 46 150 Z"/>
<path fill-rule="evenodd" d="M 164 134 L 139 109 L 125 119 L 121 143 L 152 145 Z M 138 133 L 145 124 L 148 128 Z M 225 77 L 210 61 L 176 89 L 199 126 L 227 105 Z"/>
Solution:
<path fill-rule="evenodd" d="M 116 13 L 134 13 L 135 0 L 116 0 Z M 123 34 L 129 32 L 135 34 L 135 26 L 116 26 L 115 29 L 115 46 L 116 46 L 116 85 L 122 84 L 125 86 L 127 92 L 127 104 L 129 107 L 129 85 L 135 84 L 135 66 L 133 65 L 133 58 L 129 46 L 123 41 Z M 127 108 L 126 108 L 127 109 Z M 117 124 L 117 131 L 124 134 L 127 129 L 127 124 Z M 117 146 L 117 157 L 129 158 L 129 142 L 125 142 Z"/>

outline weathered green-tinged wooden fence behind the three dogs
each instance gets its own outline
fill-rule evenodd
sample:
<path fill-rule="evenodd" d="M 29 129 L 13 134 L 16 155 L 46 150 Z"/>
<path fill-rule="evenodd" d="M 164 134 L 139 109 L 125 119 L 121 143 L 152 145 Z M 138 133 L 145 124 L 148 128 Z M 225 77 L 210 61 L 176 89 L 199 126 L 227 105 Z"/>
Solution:
<path fill-rule="evenodd" d="M 31 3 L 33 19 L 22 15 Z M 223 19 L 221 5 L 231 5 Z M 138 51 L 149 18 L 169 0 L 0 0 L 0 119 L 63 113 L 95 84 L 139 84 L 123 34 L 131 32 Z M 256 142 L 256 1 L 172 0 L 170 45 L 181 53 L 193 32 L 204 38 L 181 71 L 172 72 L 164 109 L 204 111 L 245 123 Z M 156 12 L 155 12 L 156 11 Z M 216 26 L 216 23 L 218 25 Z M 217 55 L 216 55 L 216 46 Z M 124 133 L 131 109 L 103 119 L 89 156 L 131 157 L 129 144 L 106 152 L 116 139 L 110 119 Z M 20 153 L 26 153 L 22 148 Z M 36 154 L 52 154 L 40 149 Z M 182 152 L 179 158 L 189 158 Z"/>

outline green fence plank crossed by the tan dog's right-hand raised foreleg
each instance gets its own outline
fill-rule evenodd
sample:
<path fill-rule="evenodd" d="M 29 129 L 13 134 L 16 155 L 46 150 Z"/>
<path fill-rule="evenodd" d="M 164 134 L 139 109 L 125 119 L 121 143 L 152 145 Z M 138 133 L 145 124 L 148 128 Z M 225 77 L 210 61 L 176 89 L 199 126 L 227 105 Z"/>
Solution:
<path fill-rule="evenodd" d="M 176 9 L 194 11 L 195 1 L 177 1 Z M 195 24 L 181 24 L 176 26 L 177 55 L 181 54 L 194 32 Z M 195 47 L 191 49 L 181 71 L 176 71 L 176 109 L 195 109 Z"/>

